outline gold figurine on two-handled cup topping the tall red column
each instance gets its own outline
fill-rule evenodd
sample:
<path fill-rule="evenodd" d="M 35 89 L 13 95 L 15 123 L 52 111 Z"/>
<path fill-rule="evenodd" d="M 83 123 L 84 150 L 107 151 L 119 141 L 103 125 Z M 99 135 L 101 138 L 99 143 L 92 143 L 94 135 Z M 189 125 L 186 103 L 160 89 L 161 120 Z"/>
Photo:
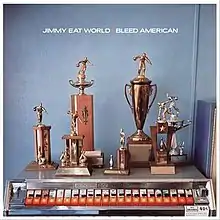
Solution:
<path fill-rule="evenodd" d="M 93 64 L 88 60 L 87 57 L 85 57 L 83 60 L 80 60 L 76 64 L 76 67 L 79 67 L 79 71 L 77 74 L 77 81 L 74 82 L 73 80 L 69 80 L 71 86 L 79 89 L 80 95 L 84 94 L 85 88 L 91 87 L 94 83 L 94 80 L 86 81 L 86 70 L 88 64 L 93 66 Z"/>

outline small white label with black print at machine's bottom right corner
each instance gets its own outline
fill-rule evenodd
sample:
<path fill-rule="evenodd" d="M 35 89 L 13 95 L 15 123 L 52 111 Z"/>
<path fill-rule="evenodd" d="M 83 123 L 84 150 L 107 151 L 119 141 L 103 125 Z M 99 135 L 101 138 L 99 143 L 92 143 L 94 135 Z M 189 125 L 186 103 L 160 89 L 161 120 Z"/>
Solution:
<path fill-rule="evenodd" d="M 185 206 L 185 216 L 209 216 L 207 205 Z"/>

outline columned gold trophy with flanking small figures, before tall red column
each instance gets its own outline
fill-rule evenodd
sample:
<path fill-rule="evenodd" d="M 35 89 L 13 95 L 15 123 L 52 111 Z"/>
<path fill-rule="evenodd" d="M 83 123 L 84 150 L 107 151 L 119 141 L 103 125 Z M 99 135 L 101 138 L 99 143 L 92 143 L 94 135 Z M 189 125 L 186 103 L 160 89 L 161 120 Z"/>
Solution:
<path fill-rule="evenodd" d="M 78 135 L 76 131 L 76 123 L 78 118 L 77 112 L 67 112 L 71 116 L 70 134 L 62 137 L 65 140 L 65 149 L 60 156 L 60 166 L 56 172 L 56 176 L 90 176 L 92 169 L 85 156 L 83 150 L 84 136 Z"/>

